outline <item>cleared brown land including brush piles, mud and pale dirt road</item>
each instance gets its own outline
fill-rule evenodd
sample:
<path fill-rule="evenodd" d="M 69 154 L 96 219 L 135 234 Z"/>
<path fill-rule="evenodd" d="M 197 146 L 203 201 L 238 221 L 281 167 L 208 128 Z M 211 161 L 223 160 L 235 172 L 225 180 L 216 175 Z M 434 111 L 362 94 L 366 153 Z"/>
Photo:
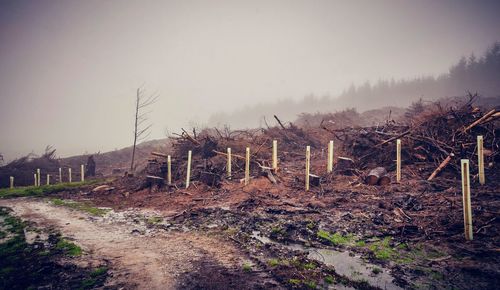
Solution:
<path fill-rule="evenodd" d="M 316 127 L 282 122 L 260 130 L 185 131 L 135 176 L 30 189 L 23 195 L 34 192 L 36 198 L 4 199 L 0 205 L 54 226 L 85 253 L 108 260 L 108 285 L 495 289 L 499 114 L 474 107 L 472 100 L 451 109 L 433 106 L 414 106 L 407 124 L 338 128 L 330 115 Z M 478 135 L 485 140 L 484 185 L 478 182 Z M 335 167 L 327 172 L 331 139 Z M 399 183 L 396 139 L 403 143 Z M 266 168 L 272 140 L 278 140 L 276 171 Z M 307 145 L 319 178 L 309 191 Z M 252 160 L 248 185 L 242 182 L 246 146 Z M 227 147 L 233 149 L 231 177 Z M 188 151 L 193 158 L 186 188 Z M 165 154 L 172 156 L 170 185 Z M 464 237 L 460 159 L 471 164 L 472 241 Z M 376 166 L 386 168 L 390 183 L 367 184 Z M 13 197 L 9 190 L 0 193 Z"/>

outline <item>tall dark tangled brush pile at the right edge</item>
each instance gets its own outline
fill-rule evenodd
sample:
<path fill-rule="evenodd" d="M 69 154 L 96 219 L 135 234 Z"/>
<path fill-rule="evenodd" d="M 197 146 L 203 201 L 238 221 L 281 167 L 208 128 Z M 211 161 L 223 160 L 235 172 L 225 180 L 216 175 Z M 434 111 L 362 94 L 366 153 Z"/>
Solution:
<path fill-rule="evenodd" d="M 459 177 L 460 159 L 469 159 L 471 168 L 477 168 L 477 136 L 483 136 L 485 166 L 492 169 L 500 158 L 500 140 L 496 138 L 500 135 L 500 112 L 495 109 L 482 112 L 472 106 L 473 100 L 474 97 L 448 109 L 438 103 L 431 104 L 412 116 L 407 125 L 388 123 L 338 130 L 335 134 L 360 169 L 375 166 L 394 169 L 395 141 L 401 139 L 403 165 L 416 165 L 418 175 L 430 179 L 440 172 Z"/>

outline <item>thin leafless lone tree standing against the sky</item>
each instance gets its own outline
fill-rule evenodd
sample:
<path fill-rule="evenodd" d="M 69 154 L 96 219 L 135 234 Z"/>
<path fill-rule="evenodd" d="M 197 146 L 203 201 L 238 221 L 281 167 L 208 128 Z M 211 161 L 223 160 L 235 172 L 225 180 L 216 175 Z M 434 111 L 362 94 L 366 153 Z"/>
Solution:
<path fill-rule="evenodd" d="M 159 95 L 157 93 L 146 97 L 144 88 L 139 87 L 137 89 L 135 101 L 134 146 L 132 148 L 132 162 L 130 164 L 131 173 L 135 171 L 134 161 L 137 142 L 143 141 L 149 137 L 149 134 L 151 134 L 151 126 L 153 126 L 153 124 L 146 124 L 148 121 L 148 114 L 151 112 L 146 109 L 154 104 L 158 100 L 158 97 Z"/>

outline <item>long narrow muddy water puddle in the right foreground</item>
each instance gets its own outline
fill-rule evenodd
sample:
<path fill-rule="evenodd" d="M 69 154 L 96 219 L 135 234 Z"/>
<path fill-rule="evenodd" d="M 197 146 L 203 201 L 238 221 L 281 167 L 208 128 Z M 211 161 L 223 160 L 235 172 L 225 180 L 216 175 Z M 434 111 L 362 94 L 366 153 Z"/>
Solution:
<path fill-rule="evenodd" d="M 327 266 L 333 266 L 339 275 L 350 280 L 367 281 L 370 285 L 381 289 L 403 289 L 392 282 L 394 278 L 390 275 L 388 269 L 367 263 L 360 256 L 351 256 L 349 252 L 304 247 L 299 244 L 284 245 L 260 235 L 258 231 L 252 232 L 252 238 L 263 244 L 279 244 L 292 251 L 307 252 L 309 259 L 322 262 Z M 339 285 L 335 285 L 335 287 L 337 286 Z"/>

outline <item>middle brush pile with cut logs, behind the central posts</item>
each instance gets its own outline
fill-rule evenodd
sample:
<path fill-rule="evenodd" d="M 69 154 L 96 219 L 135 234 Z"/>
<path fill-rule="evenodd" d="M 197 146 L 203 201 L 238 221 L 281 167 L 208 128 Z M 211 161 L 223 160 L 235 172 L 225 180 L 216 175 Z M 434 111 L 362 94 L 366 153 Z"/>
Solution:
<path fill-rule="evenodd" d="M 252 175 L 263 174 L 271 167 L 272 141 L 277 140 L 280 160 L 287 161 L 296 157 L 299 150 L 307 145 L 319 148 L 317 139 L 305 130 L 290 123 L 285 126 L 277 117 L 279 126 L 256 130 L 219 130 L 204 129 L 200 133 L 193 130 L 172 137 L 172 179 L 184 180 L 187 170 L 188 151 L 192 152 L 192 179 L 200 180 L 210 186 L 218 186 L 227 178 L 227 148 L 231 148 L 232 179 L 244 177 L 245 152 L 250 148 L 250 171 Z M 165 177 L 167 174 L 167 154 L 153 153 L 146 168 L 148 175 Z M 267 171 L 266 171 L 267 172 Z M 264 173 L 267 174 L 267 173 Z"/>

